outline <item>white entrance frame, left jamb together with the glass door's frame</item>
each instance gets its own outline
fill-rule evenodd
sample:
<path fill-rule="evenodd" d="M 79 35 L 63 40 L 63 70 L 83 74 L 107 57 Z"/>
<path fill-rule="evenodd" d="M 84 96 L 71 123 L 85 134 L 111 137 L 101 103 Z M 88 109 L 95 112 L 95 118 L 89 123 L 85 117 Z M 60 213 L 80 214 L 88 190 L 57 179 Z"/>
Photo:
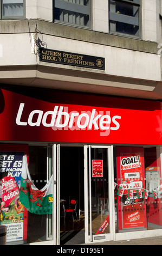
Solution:
<path fill-rule="evenodd" d="M 56 195 L 56 200 L 54 197 L 53 206 L 53 228 L 54 228 L 54 245 L 60 245 L 60 147 L 64 144 L 53 144 L 53 173 L 54 173 L 54 195 Z M 115 205 L 114 205 L 114 169 L 113 169 L 113 145 L 76 145 L 76 144 L 66 144 L 66 147 L 83 147 L 84 151 L 84 191 L 85 191 L 85 243 L 96 243 L 99 241 L 115 241 Z M 104 234 L 105 239 L 99 239 L 100 235 L 90 235 L 88 234 L 88 150 L 90 148 L 107 148 L 108 149 L 108 192 L 111 194 L 109 197 L 109 225 L 110 233 Z M 95 240 L 96 237 L 96 240 Z"/>

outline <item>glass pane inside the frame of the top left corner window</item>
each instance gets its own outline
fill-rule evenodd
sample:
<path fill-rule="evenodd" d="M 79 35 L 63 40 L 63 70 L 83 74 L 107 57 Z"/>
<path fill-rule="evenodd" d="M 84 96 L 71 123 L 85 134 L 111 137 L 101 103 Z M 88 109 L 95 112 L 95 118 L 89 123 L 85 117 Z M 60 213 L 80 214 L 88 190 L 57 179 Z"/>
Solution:
<path fill-rule="evenodd" d="M 23 16 L 23 0 L 3 0 L 3 17 Z"/>

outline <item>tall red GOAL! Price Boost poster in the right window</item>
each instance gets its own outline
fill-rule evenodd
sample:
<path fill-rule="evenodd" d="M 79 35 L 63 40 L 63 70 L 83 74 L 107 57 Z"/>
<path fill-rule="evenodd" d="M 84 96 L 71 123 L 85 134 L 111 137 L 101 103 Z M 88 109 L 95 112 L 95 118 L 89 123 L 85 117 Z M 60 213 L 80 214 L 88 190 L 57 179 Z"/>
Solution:
<path fill-rule="evenodd" d="M 143 148 L 117 149 L 119 230 L 145 229 L 146 204 L 143 197 L 145 189 L 145 167 Z"/>

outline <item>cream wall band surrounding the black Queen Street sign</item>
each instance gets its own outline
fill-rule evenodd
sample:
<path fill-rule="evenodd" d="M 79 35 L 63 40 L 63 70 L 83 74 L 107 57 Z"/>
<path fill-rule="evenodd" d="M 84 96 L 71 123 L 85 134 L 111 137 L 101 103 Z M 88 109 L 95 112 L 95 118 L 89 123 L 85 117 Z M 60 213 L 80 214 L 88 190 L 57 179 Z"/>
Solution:
<path fill-rule="evenodd" d="M 10 42 L 13 42 L 10 44 Z M 94 55 L 105 58 L 105 74 L 122 77 L 132 77 L 144 80 L 160 81 L 160 60 L 158 54 L 132 51 L 118 47 L 92 44 L 78 40 L 66 39 L 57 36 L 43 35 L 43 41 L 53 50 Z M 46 65 L 57 68 L 94 71 L 79 67 L 39 62 L 39 58 L 32 52 L 29 33 L 1 35 L 0 66 L 10 65 Z"/>

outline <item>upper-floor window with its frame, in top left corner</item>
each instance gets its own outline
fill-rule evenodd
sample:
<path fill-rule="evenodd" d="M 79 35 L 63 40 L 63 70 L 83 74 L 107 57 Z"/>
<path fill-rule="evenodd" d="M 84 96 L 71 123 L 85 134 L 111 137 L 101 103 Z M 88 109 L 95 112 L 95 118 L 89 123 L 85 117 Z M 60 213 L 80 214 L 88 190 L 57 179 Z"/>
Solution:
<path fill-rule="evenodd" d="M 0 0 L 1 19 L 25 16 L 25 0 Z"/>

